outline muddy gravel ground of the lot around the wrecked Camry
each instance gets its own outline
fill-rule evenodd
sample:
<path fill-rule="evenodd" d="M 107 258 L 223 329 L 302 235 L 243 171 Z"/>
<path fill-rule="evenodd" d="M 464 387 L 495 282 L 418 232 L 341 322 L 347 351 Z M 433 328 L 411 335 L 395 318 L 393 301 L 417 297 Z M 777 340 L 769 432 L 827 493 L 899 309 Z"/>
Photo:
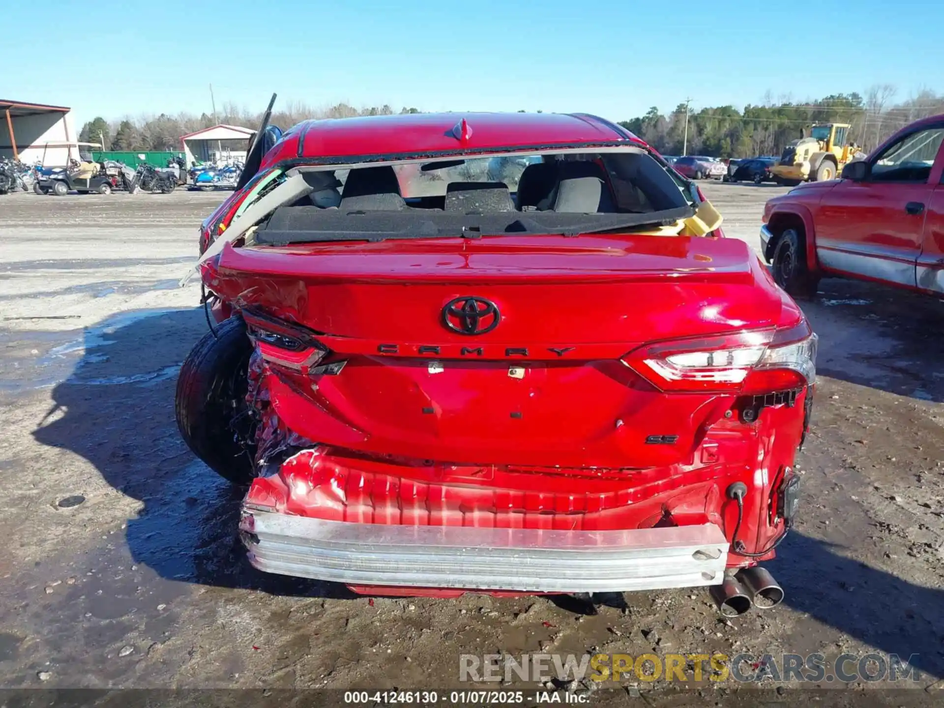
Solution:
<path fill-rule="evenodd" d="M 755 247 L 764 201 L 783 192 L 705 191 L 728 234 Z M 245 564 L 238 495 L 177 434 L 177 367 L 206 323 L 198 289 L 176 283 L 220 198 L 0 197 L 0 683 L 467 689 L 460 654 L 593 650 L 918 655 L 913 690 L 823 681 L 823 693 L 793 683 L 774 694 L 776 681 L 761 683 L 778 704 L 854 705 L 866 691 L 912 705 L 944 685 L 939 301 L 827 279 L 804 307 L 821 379 L 801 520 L 769 564 L 786 590 L 779 608 L 725 621 L 691 590 L 594 603 L 358 598 Z M 758 695 L 731 682 L 681 694 L 624 685 L 599 700 Z"/>

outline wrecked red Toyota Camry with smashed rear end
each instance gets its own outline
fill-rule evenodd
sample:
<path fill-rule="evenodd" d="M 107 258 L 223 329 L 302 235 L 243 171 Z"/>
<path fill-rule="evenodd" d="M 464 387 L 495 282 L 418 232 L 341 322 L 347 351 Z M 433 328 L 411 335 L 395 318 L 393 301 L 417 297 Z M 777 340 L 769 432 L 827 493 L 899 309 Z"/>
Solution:
<path fill-rule="evenodd" d="M 261 130 L 177 421 L 261 570 L 771 606 L 817 337 L 698 188 L 576 114 Z M 264 155 L 263 155 L 264 152 Z"/>

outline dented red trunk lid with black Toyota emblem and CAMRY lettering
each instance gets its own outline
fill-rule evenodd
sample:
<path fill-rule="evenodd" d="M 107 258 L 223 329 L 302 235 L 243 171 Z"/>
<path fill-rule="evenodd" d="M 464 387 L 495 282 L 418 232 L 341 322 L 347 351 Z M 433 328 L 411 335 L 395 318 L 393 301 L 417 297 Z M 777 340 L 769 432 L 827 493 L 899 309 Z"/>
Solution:
<path fill-rule="evenodd" d="M 669 337 L 772 329 L 784 317 L 783 299 L 757 296 L 756 279 L 768 278 L 759 261 L 727 239 L 227 245 L 207 276 L 259 315 L 257 345 L 275 362 L 272 400 L 290 429 L 457 463 L 690 460 L 733 396 L 666 396 L 621 357 Z M 297 351 L 279 352 L 295 339 Z M 674 422 L 655 430 L 654 420 Z"/>

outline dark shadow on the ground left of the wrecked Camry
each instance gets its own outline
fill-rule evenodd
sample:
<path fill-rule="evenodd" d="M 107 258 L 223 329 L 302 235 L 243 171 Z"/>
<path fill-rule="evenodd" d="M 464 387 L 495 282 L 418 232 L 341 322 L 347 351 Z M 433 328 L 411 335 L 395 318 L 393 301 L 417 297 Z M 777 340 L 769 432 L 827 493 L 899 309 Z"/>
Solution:
<path fill-rule="evenodd" d="M 115 489 L 143 502 L 127 520 L 136 563 L 168 580 L 278 595 L 348 597 L 342 585 L 261 573 L 236 529 L 244 490 L 197 461 L 177 432 L 177 370 L 207 331 L 200 309 L 165 312 L 86 333 L 72 376 L 53 390 L 51 420 L 34 437 L 95 465 Z M 60 417 L 56 417 L 59 415 Z"/>

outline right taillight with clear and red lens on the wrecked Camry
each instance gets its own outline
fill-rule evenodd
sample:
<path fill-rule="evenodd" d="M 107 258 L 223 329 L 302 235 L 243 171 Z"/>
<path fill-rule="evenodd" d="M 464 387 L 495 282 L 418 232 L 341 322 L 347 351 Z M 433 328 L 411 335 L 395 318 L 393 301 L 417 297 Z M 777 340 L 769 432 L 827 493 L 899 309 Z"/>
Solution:
<path fill-rule="evenodd" d="M 804 320 L 789 329 L 657 342 L 623 362 L 662 391 L 756 394 L 813 383 L 816 348 Z"/>

